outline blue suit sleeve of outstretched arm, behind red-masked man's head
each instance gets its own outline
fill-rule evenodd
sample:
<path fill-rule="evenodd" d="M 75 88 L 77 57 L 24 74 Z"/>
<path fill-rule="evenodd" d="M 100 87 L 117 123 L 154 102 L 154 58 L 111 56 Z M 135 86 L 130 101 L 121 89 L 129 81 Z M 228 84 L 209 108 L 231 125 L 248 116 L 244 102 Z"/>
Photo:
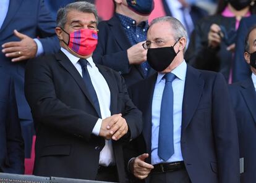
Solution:
<path fill-rule="evenodd" d="M 37 36 L 43 46 L 45 54 L 59 51 L 59 39 L 55 34 L 56 21 L 45 6 L 45 1 L 40 0 L 38 7 Z"/>

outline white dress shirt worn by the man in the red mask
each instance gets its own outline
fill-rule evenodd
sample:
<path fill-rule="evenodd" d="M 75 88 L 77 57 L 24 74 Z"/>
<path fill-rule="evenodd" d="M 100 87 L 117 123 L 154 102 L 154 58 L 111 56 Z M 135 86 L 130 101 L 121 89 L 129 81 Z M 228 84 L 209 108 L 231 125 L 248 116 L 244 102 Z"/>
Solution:
<path fill-rule="evenodd" d="M 79 63 L 79 57 L 75 57 L 74 55 L 70 54 L 66 49 L 61 47 L 61 51 L 64 52 L 64 54 L 69 58 L 70 62 L 77 68 L 77 71 L 79 71 L 79 74 L 82 75 L 82 68 Z M 101 118 L 105 119 L 109 116 L 111 116 L 111 112 L 109 110 L 110 108 L 110 90 L 108 87 L 108 83 L 106 83 L 105 78 L 103 75 L 101 75 L 100 71 L 96 67 L 95 63 L 93 62 L 92 57 L 86 59 L 88 61 L 87 64 L 87 70 L 90 75 L 90 78 L 92 80 L 93 87 L 95 89 L 96 95 L 98 97 L 98 101 L 100 104 L 100 113 Z M 100 133 L 100 127 L 102 123 L 102 119 L 98 119 L 98 121 L 95 124 L 95 127 L 93 128 L 92 133 L 96 136 Z M 85 121 L 86 123 L 86 121 Z M 109 166 L 113 165 L 115 163 L 114 161 L 114 153 L 113 153 L 113 147 L 111 140 L 105 140 L 105 147 L 100 152 L 100 165 L 103 166 Z"/>

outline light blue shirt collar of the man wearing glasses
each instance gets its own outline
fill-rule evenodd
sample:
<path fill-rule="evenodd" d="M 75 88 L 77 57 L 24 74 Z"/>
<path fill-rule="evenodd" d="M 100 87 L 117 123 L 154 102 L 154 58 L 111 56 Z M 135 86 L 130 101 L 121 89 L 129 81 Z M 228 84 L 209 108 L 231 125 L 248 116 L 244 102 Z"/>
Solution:
<path fill-rule="evenodd" d="M 180 65 L 174 68 L 174 70 L 171 71 L 171 73 L 173 73 L 177 78 L 181 79 L 182 81 L 185 81 L 187 73 L 187 63 L 185 62 L 185 60 L 183 60 Z M 164 75 L 165 73 L 158 72 L 156 83 L 160 83 Z"/>

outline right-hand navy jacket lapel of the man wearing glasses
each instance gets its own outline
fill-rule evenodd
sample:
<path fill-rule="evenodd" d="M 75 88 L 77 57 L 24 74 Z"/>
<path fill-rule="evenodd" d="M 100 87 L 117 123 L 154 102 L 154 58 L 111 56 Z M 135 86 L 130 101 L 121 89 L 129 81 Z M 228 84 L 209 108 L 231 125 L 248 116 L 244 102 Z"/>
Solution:
<path fill-rule="evenodd" d="M 181 134 L 189 125 L 192 116 L 197 109 L 198 102 L 203 92 L 204 81 L 200 78 L 200 73 L 187 65 L 187 74 L 182 102 L 182 125 Z"/>

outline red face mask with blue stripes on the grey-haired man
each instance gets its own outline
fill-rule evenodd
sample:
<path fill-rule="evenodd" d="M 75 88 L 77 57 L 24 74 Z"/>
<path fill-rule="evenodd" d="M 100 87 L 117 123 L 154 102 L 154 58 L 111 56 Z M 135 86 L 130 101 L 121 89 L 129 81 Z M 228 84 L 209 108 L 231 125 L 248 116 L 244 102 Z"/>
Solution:
<path fill-rule="evenodd" d="M 61 28 L 65 33 L 67 33 L 63 28 Z M 87 56 L 92 54 L 98 44 L 98 33 L 91 29 L 80 29 L 67 33 L 69 35 L 69 42 L 66 43 L 67 46 L 79 55 Z"/>

